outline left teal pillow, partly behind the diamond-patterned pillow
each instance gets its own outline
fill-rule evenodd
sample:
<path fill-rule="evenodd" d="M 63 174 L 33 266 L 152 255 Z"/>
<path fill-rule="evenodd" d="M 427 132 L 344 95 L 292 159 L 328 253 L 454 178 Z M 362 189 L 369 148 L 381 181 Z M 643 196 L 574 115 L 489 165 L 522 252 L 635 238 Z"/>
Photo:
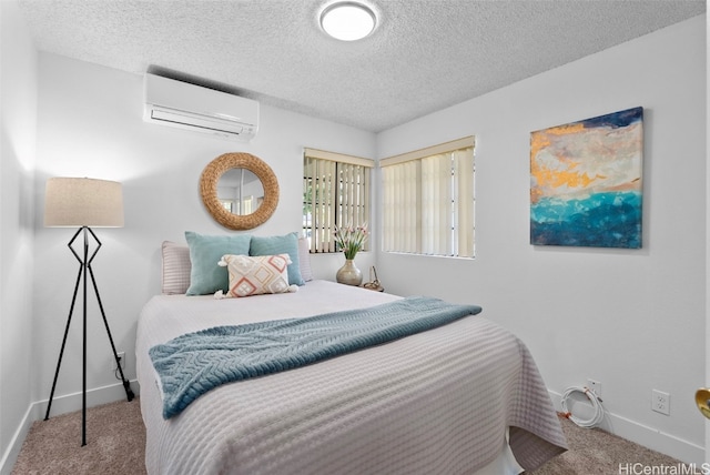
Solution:
<path fill-rule="evenodd" d="M 226 267 L 217 262 L 224 254 L 248 255 L 250 234 L 209 236 L 185 231 L 185 240 L 190 247 L 190 287 L 186 295 L 207 295 L 216 291 L 230 290 L 230 276 Z"/>

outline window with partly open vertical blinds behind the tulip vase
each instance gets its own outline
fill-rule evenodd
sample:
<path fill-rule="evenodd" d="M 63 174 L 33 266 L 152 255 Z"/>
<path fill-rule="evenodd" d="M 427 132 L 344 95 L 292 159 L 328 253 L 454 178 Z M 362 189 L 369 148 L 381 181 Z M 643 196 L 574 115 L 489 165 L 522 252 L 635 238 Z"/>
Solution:
<path fill-rule="evenodd" d="M 335 228 L 369 221 L 373 165 L 369 159 L 304 149 L 303 231 L 312 253 L 339 252 Z"/>

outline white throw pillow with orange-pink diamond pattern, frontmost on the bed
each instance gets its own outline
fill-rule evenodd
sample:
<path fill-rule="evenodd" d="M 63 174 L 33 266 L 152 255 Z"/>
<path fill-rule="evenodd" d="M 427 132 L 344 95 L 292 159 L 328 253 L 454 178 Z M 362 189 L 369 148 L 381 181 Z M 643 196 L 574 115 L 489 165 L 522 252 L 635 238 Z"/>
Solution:
<path fill-rule="evenodd" d="M 288 285 L 288 254 L 234 255 L 225 254 L 219 262 L 230 275 L 230 290 L 225 296 L 242 297 L 261 294 L 296 292 L 297 285 Z"/>

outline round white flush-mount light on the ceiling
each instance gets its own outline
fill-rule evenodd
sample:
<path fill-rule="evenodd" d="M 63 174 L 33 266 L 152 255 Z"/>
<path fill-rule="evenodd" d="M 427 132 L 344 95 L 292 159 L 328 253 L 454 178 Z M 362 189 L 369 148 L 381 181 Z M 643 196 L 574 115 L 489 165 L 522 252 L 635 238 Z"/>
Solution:
<path fill-rule="evenodd" d="M 354 1 L 332 3 L 321 13 L 323 30 L 342 41 L 362 40 L 375 30 L 376 24 L 375 12 Z"/>

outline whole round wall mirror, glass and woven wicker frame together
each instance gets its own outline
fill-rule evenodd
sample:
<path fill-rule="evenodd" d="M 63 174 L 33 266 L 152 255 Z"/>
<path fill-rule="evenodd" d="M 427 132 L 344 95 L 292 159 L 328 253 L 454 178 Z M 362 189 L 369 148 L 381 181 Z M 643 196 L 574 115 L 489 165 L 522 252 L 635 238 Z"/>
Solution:
<path fill-rule="evenodd" d="M 251 230 L 278 204 L 278 181 L 272 169 L 250 153 L 224 153 L 200 178 L 202 202 L 212 218 L 231 230 Z"/>

